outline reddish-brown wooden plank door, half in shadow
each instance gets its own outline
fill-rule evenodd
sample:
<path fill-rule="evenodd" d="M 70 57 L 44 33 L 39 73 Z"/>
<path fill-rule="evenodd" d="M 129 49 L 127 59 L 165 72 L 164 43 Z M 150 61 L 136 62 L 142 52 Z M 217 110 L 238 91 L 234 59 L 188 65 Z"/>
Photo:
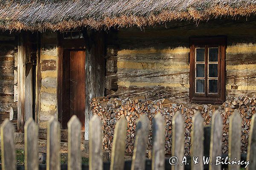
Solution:
<path fill-rule="evenodd" d="M 63 58 L 62 128 L 67 128 L 71 116 L 76 115 L 84 130 L 85 51 L 66 50 Z"/>

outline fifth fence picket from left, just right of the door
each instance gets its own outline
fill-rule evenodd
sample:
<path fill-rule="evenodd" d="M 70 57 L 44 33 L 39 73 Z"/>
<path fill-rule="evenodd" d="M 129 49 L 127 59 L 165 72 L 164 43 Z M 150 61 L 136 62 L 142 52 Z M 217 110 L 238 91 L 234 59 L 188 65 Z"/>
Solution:
<path fill-rule="evenodd" d="M 103 170 L 102 121 L 94 115 L 89 123 L 89 170 Z"/>

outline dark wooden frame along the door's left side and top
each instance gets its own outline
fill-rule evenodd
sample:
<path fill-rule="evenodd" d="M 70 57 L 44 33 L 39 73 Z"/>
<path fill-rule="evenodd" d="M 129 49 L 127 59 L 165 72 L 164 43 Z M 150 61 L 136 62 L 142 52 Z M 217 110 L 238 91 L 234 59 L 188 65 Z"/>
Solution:
<path fill-rule="evenodd" d="M 64 50 L 83 50 L 86 51 L 85 48 L 85 40 L 84 38 L 81 39 L 64 39 L 63 34 L 58 34 L 58 75 L 57 75 L 57 101 L 58 101 L 58 121 L 61 123 L 61 129 L 64 129 L 65 126 L 63 125 L 64 119 L 64 109 L 62 107 L 63 104 L 63 96 L 62 91 L 63 89 L 63 54 Z M 86 52 L 85 52 L 86 55 Z M 85 58 L 86 59 L 86 58 Z M 85 66 L 84 66 L 85 69 Z M 86 79 L 86 74 L 85 74 Z M 85 82 L 84 82 L 85 83 Z M 86 85 L 85 85 L 86 88 Z M 85 89 L 86 91 L 86 89 Z"/>

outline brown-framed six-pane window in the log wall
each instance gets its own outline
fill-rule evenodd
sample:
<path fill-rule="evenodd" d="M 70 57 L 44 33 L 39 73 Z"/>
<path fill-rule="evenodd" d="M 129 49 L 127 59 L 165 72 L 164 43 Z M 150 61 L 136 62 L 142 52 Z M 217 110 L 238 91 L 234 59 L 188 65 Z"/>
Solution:
<path fill-rule="evenodd" d="M 224 102 L 225 51 L 225 37 L 190 39 L 190 102 Z"/>

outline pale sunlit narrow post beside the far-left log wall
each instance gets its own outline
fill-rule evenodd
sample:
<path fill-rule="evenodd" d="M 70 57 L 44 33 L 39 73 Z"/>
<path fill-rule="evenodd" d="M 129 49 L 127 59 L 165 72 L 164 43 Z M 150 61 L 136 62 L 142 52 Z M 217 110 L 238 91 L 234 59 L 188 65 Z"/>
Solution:
<path fill-rule="evenodd" d="M 25 113 L 25 82 L 26 82 L 26 47 L 24 44 L 24 33 L 21 32 L 18 39 L 18 107 L 17 128 L 23 131 Z"/>

